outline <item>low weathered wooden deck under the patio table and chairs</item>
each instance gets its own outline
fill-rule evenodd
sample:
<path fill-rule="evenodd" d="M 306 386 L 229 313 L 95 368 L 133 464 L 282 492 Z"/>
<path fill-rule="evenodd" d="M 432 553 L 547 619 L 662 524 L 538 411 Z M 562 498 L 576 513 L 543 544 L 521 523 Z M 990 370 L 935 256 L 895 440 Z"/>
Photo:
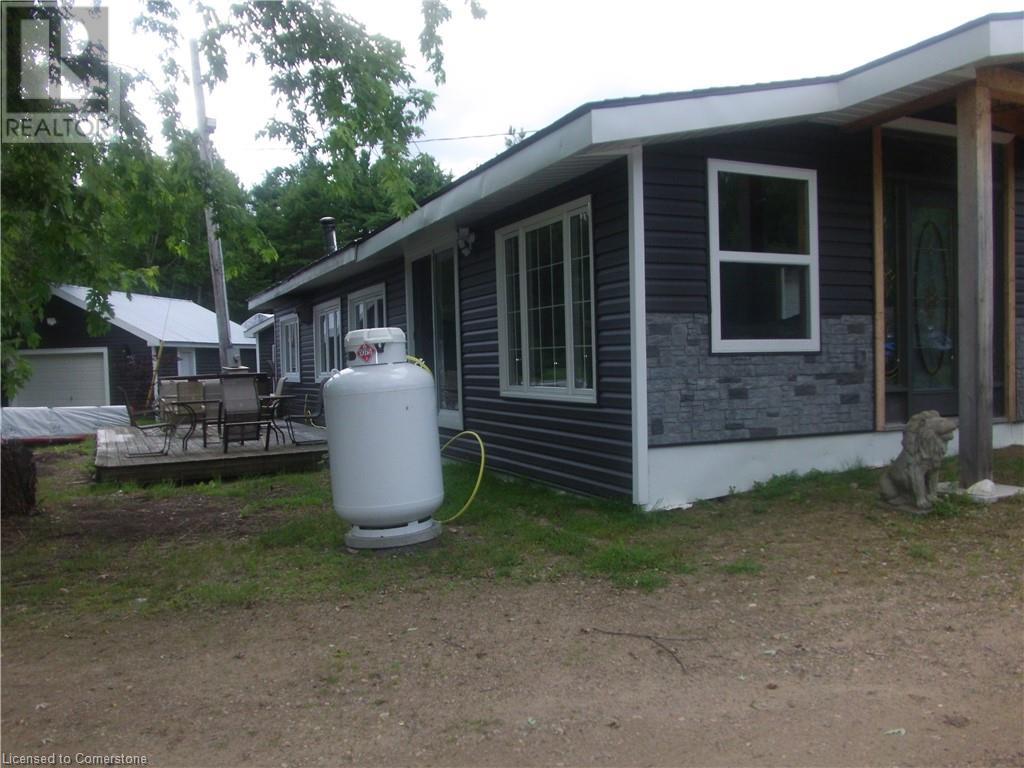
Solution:
<path fill-rule="evenodd" d="M 326 439 L 327 432 L 297 425 L 295 436 L 299 440 Z M 231 442 L 227 453 L 216 436 L 211 434 L 209 444 L 203 447 L 199 435 L 188 440 L 186 451 L 181 450 L 181 435 L 171 441 L 166 456 L 130 456 L 160 450 L 164 438 L 160 434 L 143 435 L 133 427 L 112 427 L 96 432 L 96 479 L 115 482 L 161 482 L 163 480 L 209 480 L 214 477 L 299 472 L 316 469 L 327 457 L 327 442 L 310 445 L 293 445 L 287 436 L 284 441 L 270 437 L 270 447 L 263 450 L 263 440 Z"/>

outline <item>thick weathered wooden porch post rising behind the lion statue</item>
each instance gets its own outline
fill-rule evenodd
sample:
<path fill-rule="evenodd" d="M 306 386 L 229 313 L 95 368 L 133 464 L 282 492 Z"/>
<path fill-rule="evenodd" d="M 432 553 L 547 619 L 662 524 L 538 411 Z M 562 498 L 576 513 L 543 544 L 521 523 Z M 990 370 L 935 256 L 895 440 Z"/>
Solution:
<path fill-rule="evenodd" d="M 959 481 L 992 476 L 992 111 L 988 88 L 956 95 Z"/>

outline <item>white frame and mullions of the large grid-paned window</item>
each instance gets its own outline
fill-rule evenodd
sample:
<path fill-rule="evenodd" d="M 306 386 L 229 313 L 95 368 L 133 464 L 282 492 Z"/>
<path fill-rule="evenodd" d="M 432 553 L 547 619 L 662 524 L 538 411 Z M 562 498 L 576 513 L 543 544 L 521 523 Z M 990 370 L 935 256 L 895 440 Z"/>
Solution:
<path fill-rule="evenodd" d="M 568 249 L 569 238 L 569 217 L 579 211 L 587 211 L 587 224 L 590 227 L 590 328 L 593 334 L 591 355 L 592 381 L 594 386 L 591 389 L 577 389 L 573 386 L 574 379 L 574 356 L 572 338 L 572 285 L 571 285 L 571 264 L 565 258 L 563 252 L 562 267 L 565 273 L 563 287 L 565 291 L 565 347 L 566 347 L 566 385 L 564 387 L 530 385 L 529 382 L 529 354 L 528 354 L 528 313 L 526 311 L 526 281 L 522 275 L 526 273 L 526 249 L 524 247 L 524 236 L 527 229 L 535 229 L 545 224 L 552 224 L 556 221 L 562 222 L 562 248 Z M 519 308 L 520 308 L 520 338 L 523 349 L 523 383 L 513 386 L 509 383 L 508 365 L 508 321 L 506 319 L 506 296 L 505 296 L 505 241 L 510 237 L 519 239 Z M 560 400 L 566 402 L 597 402 L 597 289 L 594 280 L 594 262 L 596 261 L 594 246 L 594 213 L 591 208 L 590 196 L 579 198 L 565 203 L 564 205 L 552 208 L 544 213 L 517 221 L 514 224 L 503 227 L 495 232 L 495 271 L 496 285 L 498 288 L 498 368 L 500 376 L 501 395 L 503 397 L 521 397 L 535 400 Z"/>

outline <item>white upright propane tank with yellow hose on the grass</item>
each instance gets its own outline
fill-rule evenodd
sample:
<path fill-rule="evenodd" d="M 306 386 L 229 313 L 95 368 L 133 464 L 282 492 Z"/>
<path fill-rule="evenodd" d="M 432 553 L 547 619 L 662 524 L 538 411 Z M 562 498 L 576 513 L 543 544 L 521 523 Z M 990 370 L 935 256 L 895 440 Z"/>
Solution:
<path fill-rule="evenodd" d="M 345 359 L 324 386 L 334 510 L 352 525 L 345 543 L 429 541 L 444 500 L 433 377 L 407 361 L 399 328 L 348 333 Z"/>

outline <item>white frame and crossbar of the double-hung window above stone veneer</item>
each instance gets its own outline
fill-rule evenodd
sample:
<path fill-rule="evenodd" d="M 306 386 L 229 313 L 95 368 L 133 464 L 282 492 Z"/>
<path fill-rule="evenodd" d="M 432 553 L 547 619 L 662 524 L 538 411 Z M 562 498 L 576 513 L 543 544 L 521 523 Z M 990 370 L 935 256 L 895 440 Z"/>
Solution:
<path fill-rule="evenodd" d="M 721 248 L 718 209 L 718 174 L 742 173 L 751 176 L 792 178 L 807 182 L 807 254 L 752 253 L 724 251 Z M 731 160 L 708 161 L 708 228 L 711 241 L 711 351 L 751 352 L 819 352 L 821 351 L 821 307 L 818 291 L 818 182 L 817 171 L 809 168 L 741 163 Z M 810 337 L 806 339 L 723 339 L 721 265 L 723 262 L 748 264 L 782 264 L 806 266 L 808 269 L 807 303 L 810 311 Z"/>

